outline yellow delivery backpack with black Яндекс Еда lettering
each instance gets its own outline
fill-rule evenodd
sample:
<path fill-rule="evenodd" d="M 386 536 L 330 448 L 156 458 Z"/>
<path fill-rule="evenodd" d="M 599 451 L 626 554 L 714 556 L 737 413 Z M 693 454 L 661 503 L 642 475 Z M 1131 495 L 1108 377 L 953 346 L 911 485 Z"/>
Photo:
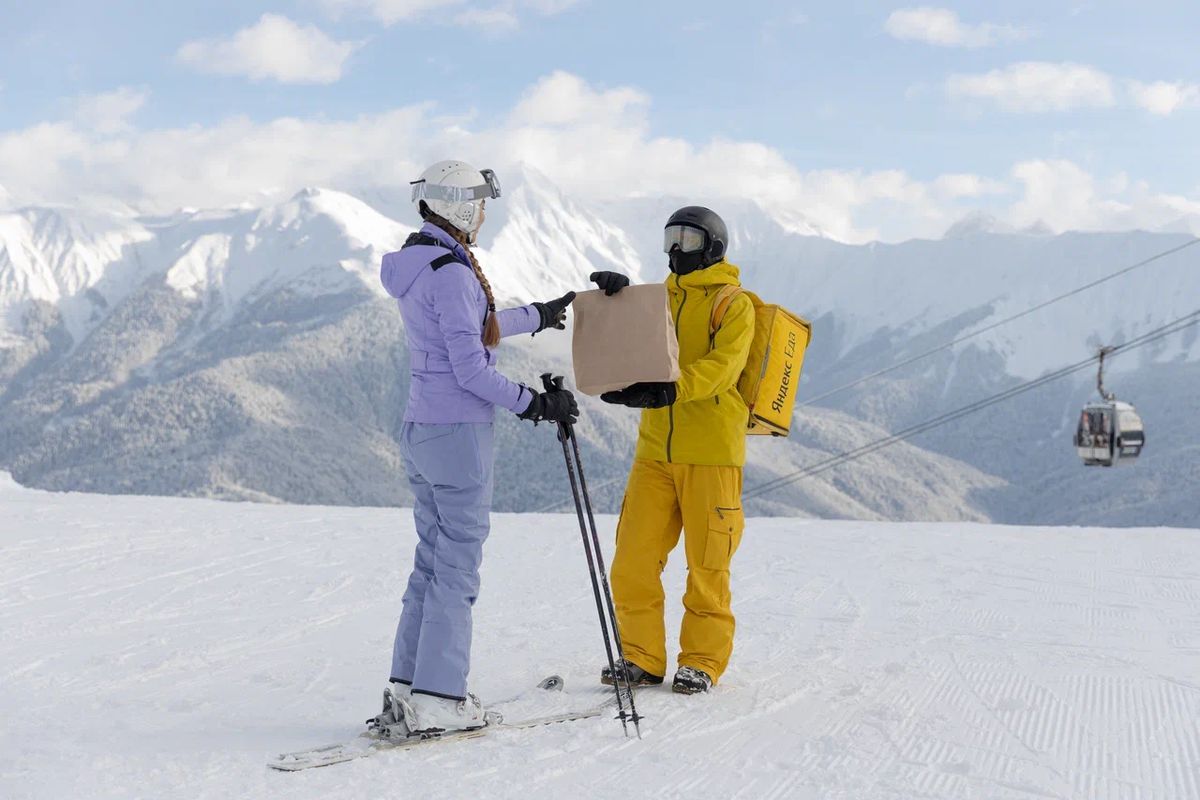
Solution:
<path fill-rule="evenodd" d="M 738 378 L 738 392 L 750 408 L 746 434 L 786 437 L 792 427 L 796 390 L 800 385 L 804 350 L 812 337 L 812 326 L 782 306 L 764 303 L 742 287 L 722 287 L 713 305 L 710 338 L 715 338 L 725 312 L 739 294 L 750 297 L 755 313 L 750 357 Z"/>

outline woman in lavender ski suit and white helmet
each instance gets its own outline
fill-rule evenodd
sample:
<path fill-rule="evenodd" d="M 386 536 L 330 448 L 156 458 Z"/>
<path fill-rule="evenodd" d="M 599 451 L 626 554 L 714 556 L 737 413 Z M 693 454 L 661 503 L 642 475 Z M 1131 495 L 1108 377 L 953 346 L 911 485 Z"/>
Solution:
<path fill-rule="evenodd" d="M 467 673 L 470 609 L 492 505 L 496 408 L 530 421 L 578 416 L 570 392 L 538 392 L 496 371 L 492 348 L 500 338 L 562 330 L 575 299 L 569 293 L 496 311 L 470 247 L 485 203 L 499 194 L 491 170 L 460 161 L 433 164 L 413 182 L 425 224 L 383 257 L 380 279 L 398 301 L 408 341 L 401 453 L 418 534 L 383 712 L 367 721 L 385 736 L 484 724 L 479 699 L 467 692 Z"/>

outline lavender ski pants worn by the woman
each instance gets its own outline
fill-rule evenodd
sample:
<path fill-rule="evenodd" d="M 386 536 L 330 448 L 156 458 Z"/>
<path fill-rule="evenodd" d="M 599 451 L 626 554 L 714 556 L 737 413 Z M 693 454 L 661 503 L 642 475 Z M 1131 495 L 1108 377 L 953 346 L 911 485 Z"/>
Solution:
<path fill-rule="evenodd" d="M 470 670 L 470 609 L 479 596 L 492 507 L 492 425 L 406 422 L 401 455 L 413 487 L 416 558 L 396 626 L 391 679 L 461 699 Z"/>

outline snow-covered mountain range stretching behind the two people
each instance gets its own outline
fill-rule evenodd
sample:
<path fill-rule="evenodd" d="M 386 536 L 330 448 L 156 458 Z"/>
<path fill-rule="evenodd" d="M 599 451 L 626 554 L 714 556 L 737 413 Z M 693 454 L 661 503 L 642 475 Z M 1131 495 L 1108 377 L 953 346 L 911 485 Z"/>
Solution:
<path fill-rule="evenodd" d="M 479 259 L 503 305 L 586 288 L 588 275 L 600 269 L 660 279 L 659 218 L 674 203 L 587 204 L 524 170 L 488 204 Z M 398 313 L 378 284 L 379 258 L 415 228 L 389 216 L 401 207 L 398 198 L 310 187 L 262 207 L 167 217 L 68 209 L 0 213 L 0 410 L 6 417 L 0 468 L 54 488 L 404 501 L 395 480 L 395 434 L 407 393 L 407 356 Z M 1046 237 L 977 229 L 937 241 L 851 246 L 790 233 L 752 203 L 722 211 L 730 215 L 732 258 L 744 282 L 815 323 L 802 401 L 1192 241 L 1172 234 Z M 1200 296 L 1200 271 L 1187 269 L 1192 263 L 1182 255 L 1162 259 L 1128 281 L 823 401 L 826 408 L 802 408 L 791 441 L 751 447 L 748 486 L 1157 326 Z M 504 368 L 526 381 L 552 367 L 569 374 L 569 336 L 557 333 L 511 341 L 503 348 Z M 1135 387 L 1140 375 L 1198 362 L 1200 337 L 1181 336 L 1118 359 L 1114 380 Z M 1154 378 L 1174 403 L 1166 407 L 1195 391 L 1192 373 L 1184 372 L 1177 387 Z M 1086 398 L 1087 383 L 1068 381 L 1058 392 L 1039 395 L 1039 404 L 1013 407 L 1040 420 L 1044 458 L 1063 475 L 1082 468 L 1067 458 L 1073 453 L 1055 426 Z M 612 509 L 619 505 L 635 417 L 592 401 L 586 408 L 581 432 L 588 437 L 588 457 L 598 459 L 594 485 L 618 487 L 602 499 Z M 989 441 L 1002 437 L 1003 426 L 1020 425 L 1013 414 L 989 417 L 984 427 L 995 433 Z M 156 427 L 162 431 L 155 433 Z M 992 457 L 973 452 L 960 445 L 971 437 L 954 431 L 839 468 L 814 488 L 788 489 L 784 499 L 749 509 L 1021 522 L 1037 522 L 1042 513 L 1058 522 L 1091 513 L 1082 506 L 1056 511 L 1049 497 L 1031 503 L 1045 483 L 1037 465 L 1022 464 L 1012 447 Z M 500 458 L 511 462 L 502 473 L 528 495 L 515 488 L 498 497 L 502 507 L 529 510 L 556 499 L 534 497 L 533 482 L 520 477 L 528 470 L 547 480 L 552 475 L 521 451 L 527 433 L 502 416 Z M 1187 441 L 1159 445 L 1153 435 L 1152 429 L 1150 461 L 1162 446 L 1171 474 L 1186 470 L 1180 447 Z M 288 443 L 296 437 L 308 437 L 311 446 L 293 452 L 298 461 L 289 464 Z M 179 480 L 155 469 L 172 443 L 186 473 Z M 1152 477 L 1160 491 L 1182 492 L 1157 473 Z M 1172 504 L 1166 505 L 1178 510 L 1164 518 L 1182 515 L 1187 522 L 1186 503 Z"/>

